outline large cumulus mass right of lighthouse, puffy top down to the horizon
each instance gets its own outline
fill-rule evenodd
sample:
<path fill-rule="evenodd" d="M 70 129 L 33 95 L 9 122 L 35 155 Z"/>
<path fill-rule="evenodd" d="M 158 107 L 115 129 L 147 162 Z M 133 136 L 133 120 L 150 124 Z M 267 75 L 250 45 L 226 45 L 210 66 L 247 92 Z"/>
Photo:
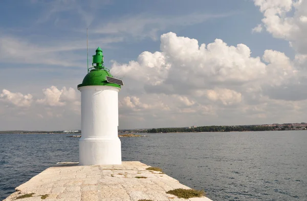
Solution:
<path fill-rule="evenodd" d="M 290 99 L 284 92 L 291 90 L 283 90 L 296 87 L 291 83 L 304 86 L 295 62 L 275 50 L 252 57 L 245 44 L 228 46 L 221 39 L 199 44 L 196 39 L 169 32 L 161 35 L 159 52 L 145 51 L 129 63 L 114 62 L 112 72 L 126 82 L 128 96 L 120 103 L 125 123 L 142 118 L 160 122 L 159 126 L 221 124 L 224 120 L 231 124 L 232 116 L 252 123 L 278 119 L 283 111 L 275 105 L 287 102 L 287 113 L 295 116 L 297 105 L 305 104 L 307 94 Z"/>

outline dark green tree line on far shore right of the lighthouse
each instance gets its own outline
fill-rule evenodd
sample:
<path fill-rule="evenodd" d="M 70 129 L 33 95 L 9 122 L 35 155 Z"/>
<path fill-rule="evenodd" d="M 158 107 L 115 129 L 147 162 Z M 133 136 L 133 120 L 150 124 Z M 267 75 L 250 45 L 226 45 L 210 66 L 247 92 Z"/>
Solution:
<path fill-rule="evenodd" d="M 200 126 L 196 128 L 152 128 L 149 133 L 159 132 L 230 132 L 230 131 L 266 131 L 274 130 L 274 126 Z"/>

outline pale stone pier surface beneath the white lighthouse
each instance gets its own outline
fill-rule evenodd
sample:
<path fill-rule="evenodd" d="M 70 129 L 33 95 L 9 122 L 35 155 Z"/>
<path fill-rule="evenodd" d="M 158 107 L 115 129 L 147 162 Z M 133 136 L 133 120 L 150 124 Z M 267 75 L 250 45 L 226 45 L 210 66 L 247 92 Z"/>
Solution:
<path fill-rule="evenodd" d="M 212 201 L 207 197 L 178 198 L 167 194 L 169 190 L 189 187 L 159 171 L 146 170 L 140 162 L 122 162 L 122 165 L 78 166 L 78 163 L 63 163 L 50 167 L 18 186 L 5 201 L 40 200 L 103 200 L 125 201 L 148 199 L 153 201 Z M 45 197 L 42 197 L 45 195 Z M 45 198 L 45 199 L 42 199 Z"/>

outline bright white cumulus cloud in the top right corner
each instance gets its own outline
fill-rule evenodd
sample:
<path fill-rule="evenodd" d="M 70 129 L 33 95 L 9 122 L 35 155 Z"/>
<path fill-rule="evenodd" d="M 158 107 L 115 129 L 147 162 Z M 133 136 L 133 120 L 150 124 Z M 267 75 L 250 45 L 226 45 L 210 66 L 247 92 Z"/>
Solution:
<path fill-rule="evenodd" d="M 288 40 L 299 54 L 307 54 L 307 1 L 254 0 L 264 14 L 262 23 L 276 38 Z"/>

